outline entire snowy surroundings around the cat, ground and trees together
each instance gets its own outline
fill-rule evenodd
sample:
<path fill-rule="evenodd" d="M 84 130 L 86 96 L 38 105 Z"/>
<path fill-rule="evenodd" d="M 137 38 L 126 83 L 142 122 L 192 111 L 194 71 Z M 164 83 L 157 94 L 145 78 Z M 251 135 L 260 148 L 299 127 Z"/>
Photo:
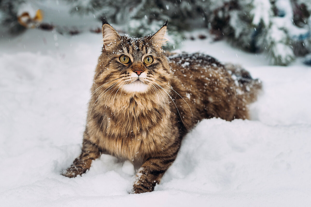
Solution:
<path fill-rule="evenodd" d="M 0 0 L 1 206 L 310 206 L 310 14 L 311 0 Z M 60 175 L 81 152 L 100 16 L 136 37 L 168 19 L 166 50 L 263 84 L 251 120 L 193 128 L 153 193 L 128 194 L 134 166 L 110 155 Z"/>

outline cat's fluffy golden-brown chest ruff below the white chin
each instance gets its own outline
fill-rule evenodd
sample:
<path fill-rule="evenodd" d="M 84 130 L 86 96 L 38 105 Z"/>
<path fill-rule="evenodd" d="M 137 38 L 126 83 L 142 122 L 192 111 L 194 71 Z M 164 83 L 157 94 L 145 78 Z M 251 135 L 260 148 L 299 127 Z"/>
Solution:
<path fill-rule="evenodd" d="M 90 130 L 96 137 L 94 143 L 103 151 L 119 158 L 143 160 L 173 142 L 168 103 L 152 94 L 121 97 L 114 105 L 110 103 L 97 108 L 100 113 L 90 124 L 94 126 Z"/>

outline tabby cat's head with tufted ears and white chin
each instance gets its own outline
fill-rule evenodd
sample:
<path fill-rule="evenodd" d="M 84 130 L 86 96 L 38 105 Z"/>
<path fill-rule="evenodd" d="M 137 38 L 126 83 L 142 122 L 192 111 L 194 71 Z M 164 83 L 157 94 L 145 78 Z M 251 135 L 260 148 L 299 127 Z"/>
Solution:
<path fill-rule="evenodd" d="M 102 21 L 104 46 L 94 78 L 101 90 L 142 94 L 169 84 L 170 67 L 161 48 L 167 40 L 167 22 L 153 35 L 133 38 L 119 35 Z"/>

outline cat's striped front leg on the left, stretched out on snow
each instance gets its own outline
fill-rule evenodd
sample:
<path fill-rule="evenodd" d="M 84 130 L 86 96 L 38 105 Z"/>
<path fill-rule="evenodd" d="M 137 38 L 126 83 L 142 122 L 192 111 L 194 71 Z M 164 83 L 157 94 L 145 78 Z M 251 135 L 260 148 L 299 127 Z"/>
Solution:
<path fill-rule="evenodd" d="M 81 155 L 77 157 L 73 161 L 73 164 L 62 173 L 63 176 L 74 178 L 77 177 L 77 175 L 82 175 L 90 169 L 92 161 L 100 156 L 99 147 L 88 138 L 88 134 L 84 133 Z"/>

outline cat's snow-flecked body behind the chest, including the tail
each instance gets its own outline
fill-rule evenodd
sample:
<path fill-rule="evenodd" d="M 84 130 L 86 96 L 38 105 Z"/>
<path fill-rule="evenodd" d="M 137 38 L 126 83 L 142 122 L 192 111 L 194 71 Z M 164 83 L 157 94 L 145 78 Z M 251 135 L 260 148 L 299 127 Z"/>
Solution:
<path fill-rule="evenodd" d="M 185 101 L 176 96 L 183 114 L 188 114 L 189 117 L 191 112 L 187 110 L 191 108 L 195 122 L 211 117 L 225 120 L 248 118 L 247 111 L 240 112 L 240 109 L 243 110 L 245 105 L 254 101 L 252 97 L 256 96 L 250 95 L 255 92 L 247 88 L 257 82 L 247 71 L 237 70 L 235 66 L 227 67 L 202 53 L 169 54 L 167 59 L 174 77 L 171 79 L 172 88 L 189 105 L 185 105 Z M 248 75 L 245 76 L 241 71 Z"/>

